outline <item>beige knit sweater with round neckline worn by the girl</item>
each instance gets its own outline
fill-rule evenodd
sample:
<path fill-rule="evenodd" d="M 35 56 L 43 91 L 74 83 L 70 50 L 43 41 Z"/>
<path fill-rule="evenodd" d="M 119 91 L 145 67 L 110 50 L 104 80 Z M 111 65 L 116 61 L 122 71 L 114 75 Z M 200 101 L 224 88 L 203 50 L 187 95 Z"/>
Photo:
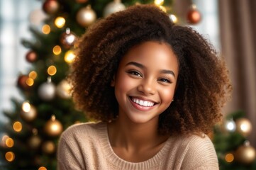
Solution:
<path fill-rule="evenodd" d="M 60 137 L 57 160 L 59 170 L 218 169 L 211 140 L 196 135 L 169 137 L 151 159 L 127 162 L 113 152 L 106 123 L 83 123 L 65 130 Z"/>

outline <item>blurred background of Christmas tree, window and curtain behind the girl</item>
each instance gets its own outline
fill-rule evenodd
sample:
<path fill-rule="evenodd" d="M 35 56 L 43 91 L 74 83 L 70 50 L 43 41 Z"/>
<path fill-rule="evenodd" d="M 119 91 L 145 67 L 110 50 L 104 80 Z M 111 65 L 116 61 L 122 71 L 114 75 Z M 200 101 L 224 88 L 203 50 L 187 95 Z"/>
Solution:
<path fill-rule="evenodd" d="M 210 136 L 221 169 L 256 169 L 254 0 L 0 0 L 0 169 L 56 169 L 62 130 L 88 121 L 65 79 L 76 38 L 135 4 L 159 6 L 225 57 L 233 99 Z"/>

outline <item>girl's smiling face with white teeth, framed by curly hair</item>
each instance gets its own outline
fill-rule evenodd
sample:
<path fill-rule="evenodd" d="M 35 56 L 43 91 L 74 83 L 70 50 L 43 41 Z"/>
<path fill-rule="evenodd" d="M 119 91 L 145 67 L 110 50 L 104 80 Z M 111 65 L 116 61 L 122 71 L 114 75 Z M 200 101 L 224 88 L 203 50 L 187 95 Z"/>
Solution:
<path fill-rule="evenodd" d="M 165 42 L 143 42 L 121 60 L 112 82 L 119 104 L 119 117 L 133 123 L 158 121 L 172 103 L 179 66 Z"/>

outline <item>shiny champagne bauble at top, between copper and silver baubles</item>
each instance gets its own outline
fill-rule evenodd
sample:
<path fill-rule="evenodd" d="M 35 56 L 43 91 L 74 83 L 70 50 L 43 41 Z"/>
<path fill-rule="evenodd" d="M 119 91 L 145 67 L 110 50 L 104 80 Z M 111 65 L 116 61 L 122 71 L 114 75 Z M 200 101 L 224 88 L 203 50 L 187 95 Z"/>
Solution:
<path fill-rule="evenodd" d="M 91 6 L 81 8 L 77 12 L 77 23 L 82 27 L 90 26 L 96 21 L 96 13 L 91 9 Z"/>

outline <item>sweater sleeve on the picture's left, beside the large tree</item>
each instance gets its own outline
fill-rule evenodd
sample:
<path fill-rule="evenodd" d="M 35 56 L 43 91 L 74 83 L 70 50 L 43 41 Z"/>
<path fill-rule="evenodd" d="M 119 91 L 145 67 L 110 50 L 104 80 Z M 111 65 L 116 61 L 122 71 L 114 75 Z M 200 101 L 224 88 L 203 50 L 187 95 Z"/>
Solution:
<path fill-rule="evenodd" d="M 72 132 L 66 131 L 59 140 L 57 149 L 58 170 L 84 170 L 79 145 L 76 144 Z"/>

